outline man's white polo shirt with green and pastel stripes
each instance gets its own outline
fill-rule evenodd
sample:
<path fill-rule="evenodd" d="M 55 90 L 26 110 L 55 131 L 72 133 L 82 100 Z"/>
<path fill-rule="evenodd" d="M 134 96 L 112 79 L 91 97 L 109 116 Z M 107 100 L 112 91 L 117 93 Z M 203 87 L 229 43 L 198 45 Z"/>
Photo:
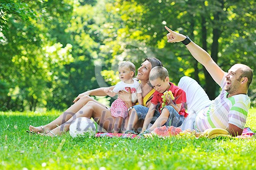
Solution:
<path fill-rule="evenodd" d="M 229 123 L 243 129 L 248 110 L 250 98 L 245 94 L 238 94 L 227 98 L 228 92 L 223 88 L 226 85 L 225 76 L 221 81 L 221 93 L 212 101 L 209 107 L 201 110 L 196 117 L 195 127 L 199 132 L 209 128 L 222 128 L 229 130 Z"/>

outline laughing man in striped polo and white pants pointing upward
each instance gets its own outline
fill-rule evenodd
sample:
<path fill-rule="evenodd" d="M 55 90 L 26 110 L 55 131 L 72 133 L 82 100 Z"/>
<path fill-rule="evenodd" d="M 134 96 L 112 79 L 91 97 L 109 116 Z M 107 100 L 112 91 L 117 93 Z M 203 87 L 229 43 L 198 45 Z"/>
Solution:
<path fill-rule="evenodd" d="M 195 80 L 190 77 L 180 79 L 178 85 L 187 96 L 187 112 L 196 114 L 194 128 L 203 132 L 205 129 L 217 127 L 228 130 L 232 136 L 241 135 L 250 108 L 247 92 L 253 79 L 252 69 L 243 64 L 236 64 L 226 73 L 218 67 L 209 53 L 191 41 L 188 36 L 176 33 L 166 26 L 165 29 L 169 32 L 167 42 L 182 42 L 222 88 L 219 96 L 214 101 L 210 101 Z"/>

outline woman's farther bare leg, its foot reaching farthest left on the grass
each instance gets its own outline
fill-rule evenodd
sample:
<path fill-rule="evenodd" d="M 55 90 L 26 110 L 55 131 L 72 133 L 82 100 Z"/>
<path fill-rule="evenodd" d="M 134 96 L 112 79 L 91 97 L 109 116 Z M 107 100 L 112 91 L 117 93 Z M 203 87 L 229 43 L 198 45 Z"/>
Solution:
<path fill-rule="evenodd" d="M 75 102 L 72 106 L 70 106 L 65 112 L 63 112 L 57 119 L 53 120 L 52 122 L 44 125 L 44 126 L 38 126 L 34 127 L 32 125 L 29 126 L 29 130 L 36 132 L 36 133 L 46 133 L 49 132 L 49 130 L 52 130 L 56 128 L 57 126 L 65 123 L 67 120 L 69 120 L 71 117 L 75 115 L 84 105 L 86 105 L 89 101 L 96 102 L 102 107 L 105 107 L 103 104 L 99 103 L 98 101 L 94 100 L 90 96 L 83 96 L 79 99 L 78 102 Z"/>

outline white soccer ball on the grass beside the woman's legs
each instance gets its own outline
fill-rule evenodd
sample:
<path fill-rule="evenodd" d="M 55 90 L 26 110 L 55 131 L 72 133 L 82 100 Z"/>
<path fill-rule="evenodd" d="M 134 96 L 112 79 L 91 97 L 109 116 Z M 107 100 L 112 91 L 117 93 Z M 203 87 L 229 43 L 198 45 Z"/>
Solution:
<path fill-rule="evenodd" d="M 85 117 L 77 118 L 70 124 L 69 134 L 71 137 L 77 137 L 84 134 L 95 135 L 96 126 L 91 119 Z"/>

